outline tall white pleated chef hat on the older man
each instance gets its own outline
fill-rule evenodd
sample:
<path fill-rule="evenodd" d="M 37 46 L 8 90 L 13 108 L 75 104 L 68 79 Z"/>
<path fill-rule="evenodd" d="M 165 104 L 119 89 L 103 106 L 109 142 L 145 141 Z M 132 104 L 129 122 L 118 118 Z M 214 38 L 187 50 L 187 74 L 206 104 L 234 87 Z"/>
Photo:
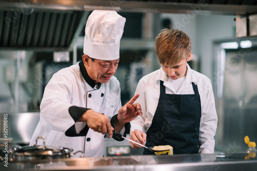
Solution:
<path fill-rule="evenodd" d="M 102 60 L 120 58 L 120 39 L 125 21 L 116 11 L 94 10 L 86 23 L 84 54 Z"/>

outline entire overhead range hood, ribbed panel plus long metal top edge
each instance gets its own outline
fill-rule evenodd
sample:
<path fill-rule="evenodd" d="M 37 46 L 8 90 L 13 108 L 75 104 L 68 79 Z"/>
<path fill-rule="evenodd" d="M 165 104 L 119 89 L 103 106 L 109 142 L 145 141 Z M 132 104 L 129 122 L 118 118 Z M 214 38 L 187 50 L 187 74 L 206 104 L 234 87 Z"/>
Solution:
<path fill-rule="evenodd" d="M 0 49 L 70 49 L 94 9 L 247 16 L 257 0 L 0 0 Z"/>

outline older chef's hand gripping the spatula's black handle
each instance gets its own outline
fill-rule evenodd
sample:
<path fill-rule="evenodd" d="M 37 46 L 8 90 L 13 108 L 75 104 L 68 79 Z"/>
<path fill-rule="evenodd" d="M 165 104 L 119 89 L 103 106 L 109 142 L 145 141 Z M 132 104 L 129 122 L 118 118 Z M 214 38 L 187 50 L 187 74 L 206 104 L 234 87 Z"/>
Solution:
<path fill-rule="evenodd" d="M 90 129 L 102 134 L 106 134 L 108 132 L 110 138 L 113 136 L 114 128 L 112 127 L 109 118 L 91 109 L 87 110 L 79 118 L 78 122 L 86 122 Z"/>

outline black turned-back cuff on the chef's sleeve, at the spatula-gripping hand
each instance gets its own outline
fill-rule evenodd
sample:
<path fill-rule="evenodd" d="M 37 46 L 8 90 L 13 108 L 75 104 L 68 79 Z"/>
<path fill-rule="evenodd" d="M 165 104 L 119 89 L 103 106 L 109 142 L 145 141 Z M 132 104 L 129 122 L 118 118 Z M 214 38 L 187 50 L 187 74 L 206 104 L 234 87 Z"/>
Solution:
<path fill-rule="evenodd" d="M 69 114 L 72 117 L 72 119 L 77 122 L 77 120 L 89 109 L 87 108 L 81 108 L 75 105 L 72 105 L 69 107 Z M 77 134 L 75 124 L 72 125 L 66 132 L 65 135 L 68 137 L 78 137 L 78 136 L 86 136 L 87 132 L 89 130 L 89 127 L 87 124 L 85 127 L 80 131 L 80 134 Z"/>

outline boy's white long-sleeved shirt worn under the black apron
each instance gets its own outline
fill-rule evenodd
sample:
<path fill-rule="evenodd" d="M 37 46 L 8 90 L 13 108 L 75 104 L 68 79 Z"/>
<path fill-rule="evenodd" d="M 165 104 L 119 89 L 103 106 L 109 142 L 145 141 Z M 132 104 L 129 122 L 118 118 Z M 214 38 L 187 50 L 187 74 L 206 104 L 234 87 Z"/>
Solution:
<path fill-rule="evenodd" d="M 162 68 L 139 80 L 135 94 L 140 94 L 136 102 L 141 105 L 142 116 L 131 121 L 132 133 L 135 129 L 146 133 L 152 124 L 160 96 L 160 80 L 166 87 L 166 94 L 194 94 L 192 82 L 197 84 L 201 101 L 201 119 L 199 130 L 199 153 L 214 153 L 214 135 L 217 127 L 217 113 L 211 81 L 205 75 L 192 70 L 187 64 L 187 74 L 176 92 L 171 79 Z"/>

